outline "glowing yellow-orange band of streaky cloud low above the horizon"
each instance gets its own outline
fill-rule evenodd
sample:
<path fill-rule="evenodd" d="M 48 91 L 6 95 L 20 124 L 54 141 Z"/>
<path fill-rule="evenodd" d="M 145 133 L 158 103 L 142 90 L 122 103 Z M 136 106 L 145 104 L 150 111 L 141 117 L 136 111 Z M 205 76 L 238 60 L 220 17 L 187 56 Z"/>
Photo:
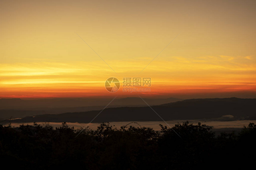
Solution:
<path fill-rule="evenodd" d="M 104 92 L 104 81 L 116 77 L 151 77 L 151 94 L 162 92 L 187 93 L 255 91 L 256 62 L 248 56 L 171 56 L 152 61 L 149 58 L 115 59 L 106 61 L 43 61 L 31 63 L 0 63 L 0 96 L 99 95 Z M 148 66 L 147 64 L 152 61 Z M 141 74 L 141 70 L 145 67 Z M 217 90 L 217 91 L 216 91 Z M 192 92 L 192 91 L 191 91 Z M 107 95 L 107 94 L 106 94 Z"/>

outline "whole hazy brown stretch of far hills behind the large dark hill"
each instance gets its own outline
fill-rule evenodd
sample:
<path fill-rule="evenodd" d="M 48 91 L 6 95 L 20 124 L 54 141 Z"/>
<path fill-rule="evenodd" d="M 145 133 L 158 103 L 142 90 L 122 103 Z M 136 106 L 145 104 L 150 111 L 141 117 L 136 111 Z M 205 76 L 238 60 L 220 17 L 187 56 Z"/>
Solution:
<path fill-rule="evenodd" d="M 42 114 L 60 114 L 65 112 L 86 112 L 103 109 L 112 98 L 52 98 L 22 100 L 20 98 L 0 99 L 0 119 L 22 118 Z M 159 105 L 175 101 L 178 98 L 144 98 L 150 105 Z M 116 98 L 108 107 L 142 107 L 146 106 L 141 98 Z"/>

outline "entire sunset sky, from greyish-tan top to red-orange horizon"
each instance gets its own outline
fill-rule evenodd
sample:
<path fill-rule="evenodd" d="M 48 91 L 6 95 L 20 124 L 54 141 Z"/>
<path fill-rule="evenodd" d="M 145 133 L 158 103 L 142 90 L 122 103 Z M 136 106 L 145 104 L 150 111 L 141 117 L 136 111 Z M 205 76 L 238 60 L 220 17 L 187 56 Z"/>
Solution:
<path fill-rule="evenodd" d="M 0 98 L 256 98 L 255 9 L 254 0 L 2 0 Z M 123 92 L 124 77 L 151 78 L 150 92 Z"/>

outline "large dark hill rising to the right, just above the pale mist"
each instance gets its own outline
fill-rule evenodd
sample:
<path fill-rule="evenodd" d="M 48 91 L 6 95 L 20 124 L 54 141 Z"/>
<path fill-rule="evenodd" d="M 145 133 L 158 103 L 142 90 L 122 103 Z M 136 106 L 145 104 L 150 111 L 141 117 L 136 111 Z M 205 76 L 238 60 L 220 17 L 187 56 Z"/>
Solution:
<path fill-rule="evenodd" d="M 256 120 L 256 99 L 189 99 L 152 106 L 164 120 Z M 100 111 L 62 113 L 24 117 L 17 122 L 90 122 Z M 15 120 L 13 120 L 15 121 Z M 107 108 L 93 122 L 161 121 L 149 107 Z"/>

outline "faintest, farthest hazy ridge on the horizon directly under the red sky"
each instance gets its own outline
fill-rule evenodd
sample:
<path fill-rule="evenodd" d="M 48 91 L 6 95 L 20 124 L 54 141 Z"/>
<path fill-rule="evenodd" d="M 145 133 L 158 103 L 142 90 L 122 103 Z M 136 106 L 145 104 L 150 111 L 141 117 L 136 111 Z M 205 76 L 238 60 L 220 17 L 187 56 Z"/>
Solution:
<path fill-rule="evenodd" d="M 86 107 L 86 106 L 106 106 L 112 98 L 48 98 L 23 100 L 20 98 L 0 99 L 0 109 L 33 109 L 33 108 L 54 108 L 54 107 Z M 159 105 L 175 101 L 179 98 L 144 98 L 150 105 Z M 127 97 L 116 98 L 111 106 L 145 105 L 141 98 Z"/>

